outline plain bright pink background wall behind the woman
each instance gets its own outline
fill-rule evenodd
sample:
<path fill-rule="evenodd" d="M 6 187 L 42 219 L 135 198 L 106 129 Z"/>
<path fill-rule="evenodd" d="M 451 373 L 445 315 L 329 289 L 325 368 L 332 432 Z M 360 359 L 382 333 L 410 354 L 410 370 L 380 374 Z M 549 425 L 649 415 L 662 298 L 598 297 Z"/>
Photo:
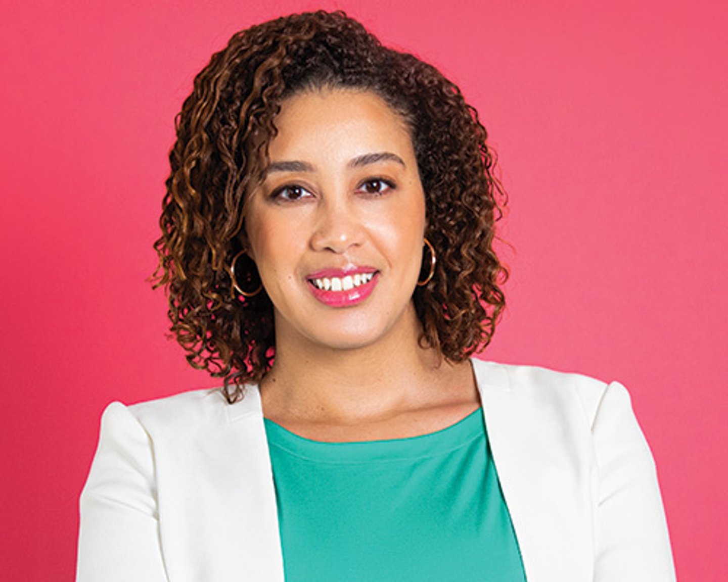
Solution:
<path fill-rule="evenodd" d="M 491 132 L 513 277 L 487 357 L 627 384 L 679 578 L 728 579 L 728 3 L 4 4 L 0 578 L 72 578 L 108 402 L 216 383 L 145 281 L 192 77 L 240 28 L 339 7 L 438 65 Z"/>

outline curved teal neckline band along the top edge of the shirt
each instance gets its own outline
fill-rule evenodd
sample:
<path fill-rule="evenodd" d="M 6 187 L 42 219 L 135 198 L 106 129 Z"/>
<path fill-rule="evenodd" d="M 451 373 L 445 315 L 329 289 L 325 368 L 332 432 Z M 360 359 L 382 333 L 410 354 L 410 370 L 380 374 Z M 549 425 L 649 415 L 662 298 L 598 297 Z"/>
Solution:
<path fill-rule="evenodd" d="M 298 458 L 328 463 L 363 463 L 423 458 L 450 453 L 484 434 L 483 408 L 470 412 L 456 423 L 438 431 L 400 439 L 371 441 L 325 442 L 307 439 L 264 418 L 270 447 Z"/>

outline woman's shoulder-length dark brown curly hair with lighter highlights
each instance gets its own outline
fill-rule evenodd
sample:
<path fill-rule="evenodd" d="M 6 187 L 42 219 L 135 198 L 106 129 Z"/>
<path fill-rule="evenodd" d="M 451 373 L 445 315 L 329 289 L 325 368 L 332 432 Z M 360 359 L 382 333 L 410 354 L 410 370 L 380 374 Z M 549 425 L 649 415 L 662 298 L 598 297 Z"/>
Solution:
<path fill-rule="evenodd" d="M 274 358 L 272 303 L 240 296 L 229 264 L 245 244 L 245 195 L 264 177 L 286 97 L 317 88 L 379 95 L 405 121 L 426 196 L 435 275 L 414 292 L 420 345 L 459 362 L 491 340 L 507 270 L 493 249 L 505 194 L 478 113 L 458 87 L 413 55 L 382 47 L 343 12 L 291 15 L 236 33 L 194 79 L 175 125 L 154 243 L 171 331 L 188 362 L 225 378 L 229 402 Z M 255 266 L 250 262 L 250 269 Z M 240 281 L 256 279 L 255 272 Z"/>

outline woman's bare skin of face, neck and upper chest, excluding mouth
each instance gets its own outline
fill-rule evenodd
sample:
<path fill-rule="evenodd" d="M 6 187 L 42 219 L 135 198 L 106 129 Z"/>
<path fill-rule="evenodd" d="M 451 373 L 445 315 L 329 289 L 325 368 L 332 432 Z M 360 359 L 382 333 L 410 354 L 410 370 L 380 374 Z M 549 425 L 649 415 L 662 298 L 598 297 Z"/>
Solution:
<path fill-rule="evenodd" d="M 479 406 L 468 362 L 418 344 L 412 294 L 422 264 L 424 191 L 400 116 L 371 92 L 294 95 L 276 118 L 264 183 L 246 205 L 248 254 L 274 305 L 266 418 L 327 442 L 440 430 Z M 376 271 L 371 295 L 332 307 L 309 279 Z"/>

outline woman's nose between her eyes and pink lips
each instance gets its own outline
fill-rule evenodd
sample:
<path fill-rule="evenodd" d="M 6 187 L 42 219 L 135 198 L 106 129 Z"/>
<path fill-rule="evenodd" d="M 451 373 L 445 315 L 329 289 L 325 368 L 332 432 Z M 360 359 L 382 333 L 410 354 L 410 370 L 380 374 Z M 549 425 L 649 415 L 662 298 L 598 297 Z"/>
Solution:
<path fill-rule="evenodd" d="M 355 204 L 346 196 L 324 199 L 317 211 L 311 246 L 341 254 L 362 243 L 363 231 Z"/>

